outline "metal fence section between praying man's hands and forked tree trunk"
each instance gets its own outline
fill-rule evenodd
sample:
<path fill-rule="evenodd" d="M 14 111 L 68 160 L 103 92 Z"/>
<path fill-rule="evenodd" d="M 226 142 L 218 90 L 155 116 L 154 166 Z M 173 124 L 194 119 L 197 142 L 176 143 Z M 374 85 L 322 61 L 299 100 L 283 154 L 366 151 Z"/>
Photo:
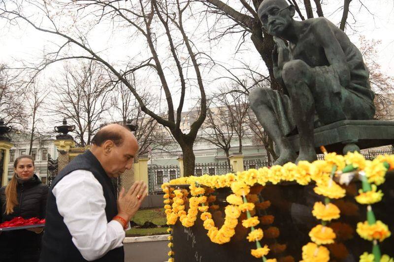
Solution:
<path fill-rule="evenodd" d="M 162 194 L 162 184 L 181 176 L 178 166 L 148 165 L 149 194 Z"/>

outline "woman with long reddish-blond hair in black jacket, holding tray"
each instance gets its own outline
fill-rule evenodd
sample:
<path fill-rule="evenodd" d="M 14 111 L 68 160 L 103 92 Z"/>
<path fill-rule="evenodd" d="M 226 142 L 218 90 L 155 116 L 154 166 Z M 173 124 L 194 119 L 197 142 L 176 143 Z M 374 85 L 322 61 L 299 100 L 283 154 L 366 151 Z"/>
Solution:
<path fill-rule="evenodd" d="M 48 186 L 34 174 L 30 155 L 14 162 L 15 174 L 7 186 L 0 188 L 0 223 L 14 217 L 45 218 Z M 0 262 L 37 262 L 43 228 L 0 232 Z"/>

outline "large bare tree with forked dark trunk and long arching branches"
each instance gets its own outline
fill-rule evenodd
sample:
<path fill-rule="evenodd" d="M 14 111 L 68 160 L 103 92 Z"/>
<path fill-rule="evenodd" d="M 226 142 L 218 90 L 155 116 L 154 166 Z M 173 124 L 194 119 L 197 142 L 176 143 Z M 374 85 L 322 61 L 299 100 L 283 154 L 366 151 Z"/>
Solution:
<path fill-rule="evenodd" d="M 58 46 L 56 51 L 46 52 L 39 65 L 33 67 L 37 72 L 53 62 L 71 58 L 85 58 L 103 64 L 120 82 L 131 90 L 143 112 L 169 129 L 182 148 L 185 174 L 191 175 L 194 173 L 195 166 L 193 144 L 196 140 L 198 129 L 206 117 L 206 97 L 200 68 L 207 63 L 203 59 L 209 61 L 208 56 L 197 50 L 197 45 L 192 42 L 193 34 L 188 33 L 184 27 L 185 23 L 187 24 L 188 22 L 188 18 L 194 19 L 194 23 L 199 23 L 195 21 L 197 18 L 192 16 L 194 12 L 191 10 L 191 6 L 193 4 L 197 3 L 191 0 L 182 2 L 178 0 L 65 0 L 62 2 L 55 0 L 1 0 L 0 15 L 7 19 L 11 25 L 27 23 L 39 31 L 60 36 L 65 40 L 63 44 Z M 69 27 L 65 29 L 58 23 L 57 10 L 54 11 L 54 8 L 57 6 L 63 6 L 59 10 L 63 15 L 68 11 L 74 12 L 74 17 L 72 17 L 73 23 L 70 27 L 75 30 L 70 30 Z M 29 7 L 40 14 L 39 19 L 34 19 L 37 17 L 36 13 L 28 14 Z M 117 69 L 114 64 L 89 45 L 86 34 L 84 34 L 84 28 L 78 28 L 78 21 L 76 20 L 89 20 L 89 25 L 109 22 L 113 27 L 134 29 L 137 31 L 138 36 L 144 38 L 150 55 L 145 59 L 141 59 L 142 61 L 138 64 L 133 64 L 133 61 L 130 61 L 123 70 Z M 159 51 L 158 43 L 163 43 L 161 39 L 166 39 L 166 46 L 169 47 L 169 50 L 167 49 L 168 56 Z M 82 50 L 82 53 L 80 55 L 68 54 L 67 51 L 73 47 Z M 127 46 L 127 48 L 129 47 Z M 160 57 L 159 53 L 161 53 Z M 170 62 L 171 65 L 166 64 Z M 162 117 L 150 110 L 127 79 L 128 74 L 142 68 L 152 69 L 160 82 L 168 109 L 166 117 Z M 176 109 L 176 105 L 173 103 L 171 85 L 169 85 L 170 80 L 165 70 L 170 70 L 171 75 L 175 75 L 177 83 L 179 83 L 175 91 L 179 96 L 179 99 L 177 99 L 179 103 Z M 199 96 L 199 116 L 192 123 L 190 132 L 185 134 L 180 129 L 180 117 L 185 103 L 187 88 L 197 90 L 194 94 Z"/>

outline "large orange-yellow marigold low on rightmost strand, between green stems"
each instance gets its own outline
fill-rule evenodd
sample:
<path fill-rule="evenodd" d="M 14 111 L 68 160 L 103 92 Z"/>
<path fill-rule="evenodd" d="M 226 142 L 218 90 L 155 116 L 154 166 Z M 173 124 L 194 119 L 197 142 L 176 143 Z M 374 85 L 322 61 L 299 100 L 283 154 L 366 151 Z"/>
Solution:
<path fill-rule="evenodd" d="M 369 241 L 376 239 L 379 240 L 379 242 L 382 242 L 391 235 L 387 225 L 382 223 L 380 220 L 376 221 L 376 223 L 372 225 L 369 225 L 368 221 L 365 221 L 364 223 L 359 222 L 357 223 L 356 231 L 362 238 Z"/>

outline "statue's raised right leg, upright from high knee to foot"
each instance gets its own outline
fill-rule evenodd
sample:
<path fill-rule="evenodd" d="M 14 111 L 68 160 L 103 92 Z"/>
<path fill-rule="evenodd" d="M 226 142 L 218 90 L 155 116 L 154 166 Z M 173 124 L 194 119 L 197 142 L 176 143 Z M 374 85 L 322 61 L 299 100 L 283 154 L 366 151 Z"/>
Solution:
<path fill-rule="evenodd" d="M 292 60 L 283 66 L 282 78 L 290 94 L 299 133 L 296 163 L 300 160 L 312 162 L 317 159 L 313 134 L 315 103 L 310 88 L 314 84 L 314 72 L 304 61 Z"/>

